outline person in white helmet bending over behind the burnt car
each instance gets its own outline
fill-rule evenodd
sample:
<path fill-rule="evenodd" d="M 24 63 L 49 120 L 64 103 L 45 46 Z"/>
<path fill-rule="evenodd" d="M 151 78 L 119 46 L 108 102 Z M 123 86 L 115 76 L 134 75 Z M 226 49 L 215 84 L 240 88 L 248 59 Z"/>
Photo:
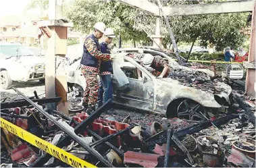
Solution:
<path fill-rule="evenodd" d="M 145 54 L 143 57 L 143 63 L 142 65 L 144 67 L 152 67 L 155 69 L 155 72 L 152 74 L 154 76 L 157 76 L 158 79 L 166 78 L 169 75 L 169 66 L 168 63 L 159 55 L 156 55 L 155 57 L 151 54 Z M 137 70 L 138 72 L 138 79 L 141 79 L 140 70 Z"/>

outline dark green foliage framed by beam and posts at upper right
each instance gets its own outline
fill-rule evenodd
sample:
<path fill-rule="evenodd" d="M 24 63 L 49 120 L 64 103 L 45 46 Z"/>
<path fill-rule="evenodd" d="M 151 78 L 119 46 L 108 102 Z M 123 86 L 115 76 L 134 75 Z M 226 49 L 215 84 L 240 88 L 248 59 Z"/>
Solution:
<path fill-rule="evenodd" d="M 222 51 L 226 46 L 239 47 L 245 42 L 246 36 L 240 30 L 246 24 L 247 13 L 170 16 L 169 18 L 178 41 L 192 43 L 193 40 L 199 39 L 202 46 L 207 47 L 212 44 L 217 51 Z"/>

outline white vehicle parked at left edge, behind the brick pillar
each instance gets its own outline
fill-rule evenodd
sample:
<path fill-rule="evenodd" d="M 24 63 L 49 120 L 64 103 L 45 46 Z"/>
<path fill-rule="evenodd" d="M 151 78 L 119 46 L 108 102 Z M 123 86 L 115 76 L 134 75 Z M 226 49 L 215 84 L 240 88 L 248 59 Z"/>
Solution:
<path fill-rule="evenodd" d="M 27 82 L 45 78 L 44 57 L 34 55 L 20 43 L 0 44 L 1 88 L 11 87 L 12 82 Z"/>

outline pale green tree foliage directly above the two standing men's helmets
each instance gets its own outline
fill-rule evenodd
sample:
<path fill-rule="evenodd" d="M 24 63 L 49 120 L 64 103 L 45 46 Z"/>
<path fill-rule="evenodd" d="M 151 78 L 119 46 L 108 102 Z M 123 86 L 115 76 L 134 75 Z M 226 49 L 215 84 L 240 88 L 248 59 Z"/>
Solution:
<path fill-rule="evenodd" d="M 86 34 L 93 31 L 96 22 L 104 22 L 117 35 L 120 34 L 122 40 L 149 41 L 140 25 L 155 29 L 153 16 L 117 1 L 76 0 L 67 16 L 74 23 L 74 28 Z"/>

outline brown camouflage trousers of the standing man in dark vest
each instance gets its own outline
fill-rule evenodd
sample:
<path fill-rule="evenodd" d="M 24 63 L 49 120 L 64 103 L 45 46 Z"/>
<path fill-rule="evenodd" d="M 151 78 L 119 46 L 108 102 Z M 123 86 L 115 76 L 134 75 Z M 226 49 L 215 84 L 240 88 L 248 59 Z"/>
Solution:
<path fill-rule="evenodd" d="M 82 68 L 82 74 L 86 80 L 83 101 L 88 105 L 88 107 L 95 109 L 99 96 L 99 82 L 97 79 L 98 73 L 90 69 Z"/>

